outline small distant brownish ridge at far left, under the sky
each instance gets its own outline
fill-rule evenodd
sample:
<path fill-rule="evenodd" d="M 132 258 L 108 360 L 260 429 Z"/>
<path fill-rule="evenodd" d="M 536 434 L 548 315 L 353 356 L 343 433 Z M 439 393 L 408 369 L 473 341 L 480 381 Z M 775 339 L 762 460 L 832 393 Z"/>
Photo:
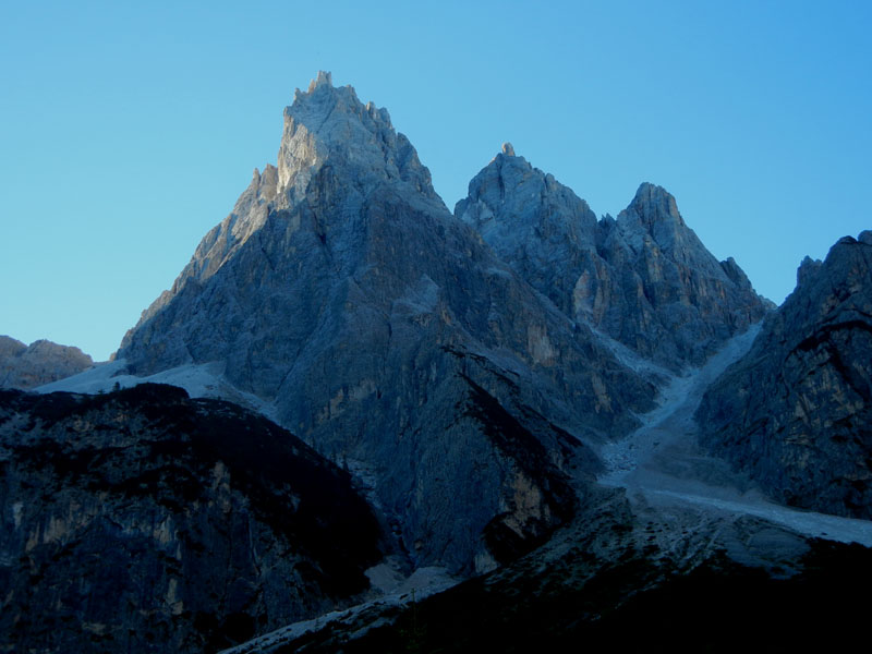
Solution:
<path fill-rule="evenodd" d="M 75 375 L 94 365 L 78 348 L 0 336 L 0 388 L 28 389 Z"/>

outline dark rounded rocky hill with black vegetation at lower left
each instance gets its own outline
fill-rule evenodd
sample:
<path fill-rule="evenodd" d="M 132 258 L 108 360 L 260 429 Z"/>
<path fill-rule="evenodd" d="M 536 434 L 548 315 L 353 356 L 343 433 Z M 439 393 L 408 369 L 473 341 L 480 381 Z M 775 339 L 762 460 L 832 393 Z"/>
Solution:
<path fill-rule="evenodd" d="M 142 385 L 0 391 L 0 649 L 214 652 L 359 598 L 349 474 L 264 417 Z"/>

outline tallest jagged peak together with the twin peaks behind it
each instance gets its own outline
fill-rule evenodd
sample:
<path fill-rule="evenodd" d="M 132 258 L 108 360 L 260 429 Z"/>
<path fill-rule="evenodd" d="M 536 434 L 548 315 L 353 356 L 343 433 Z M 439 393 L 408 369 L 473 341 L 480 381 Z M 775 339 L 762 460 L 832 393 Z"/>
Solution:
<path fill-rule="evenodd" d="M 118 358 L 134 374 L 220 362 L 372 480 L 416 565 L 486 570 L 571 513 L 566 479 L 597 467 L 583 444 L 654 405 L 598 329 L 641 355 L 669 332 L 658 361 L 680 367 L 765 303 L 654 186 L 597 222 L 501 154 L 458 213 L 387 111 L 322 74 L 286 109 L 278 167 L 255 172 Z"/>

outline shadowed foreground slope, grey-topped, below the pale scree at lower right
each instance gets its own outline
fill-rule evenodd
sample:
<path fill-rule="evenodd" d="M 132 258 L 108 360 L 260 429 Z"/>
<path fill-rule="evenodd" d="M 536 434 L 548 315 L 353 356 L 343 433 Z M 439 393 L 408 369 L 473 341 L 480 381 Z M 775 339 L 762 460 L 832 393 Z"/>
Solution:
<path fill-rule="evenodd" d="M 856 597 L 870 562 L 857 545 L 747 517 L 633 511 L 621 493 L 601 491 L 547 544 L 489 574 L 226 654 L 849 646 L 863 634 Z M 798 617 L 807 628 L 796 629 Z"/>

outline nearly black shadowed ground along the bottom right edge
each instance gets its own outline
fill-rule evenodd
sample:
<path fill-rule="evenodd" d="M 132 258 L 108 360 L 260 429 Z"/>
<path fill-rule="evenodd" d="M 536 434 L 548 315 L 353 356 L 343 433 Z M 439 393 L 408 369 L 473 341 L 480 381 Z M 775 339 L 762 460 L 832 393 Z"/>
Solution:
<path fill-rule="evenodd" d="M 754 535 L 747 528 L 735 531 Z M 595 652 L 726 653 L 749 643 L 775 652 L 850 651 L 867 633 L 863 603 L 856 598 L 872 582 L 872 557 L 859 546 L 816 543 L 801 570 L 787 578 L 717 554 L 688 567 L 658 566 L 631 547 L 617 561 L 584 548 L 577 556 L 471 580 L 351 629 L 306 634 L 284 649 L 233 654 L 572 652 L 579 643 Z M 589 577 L 572 577 L 584 567 Z"/>

